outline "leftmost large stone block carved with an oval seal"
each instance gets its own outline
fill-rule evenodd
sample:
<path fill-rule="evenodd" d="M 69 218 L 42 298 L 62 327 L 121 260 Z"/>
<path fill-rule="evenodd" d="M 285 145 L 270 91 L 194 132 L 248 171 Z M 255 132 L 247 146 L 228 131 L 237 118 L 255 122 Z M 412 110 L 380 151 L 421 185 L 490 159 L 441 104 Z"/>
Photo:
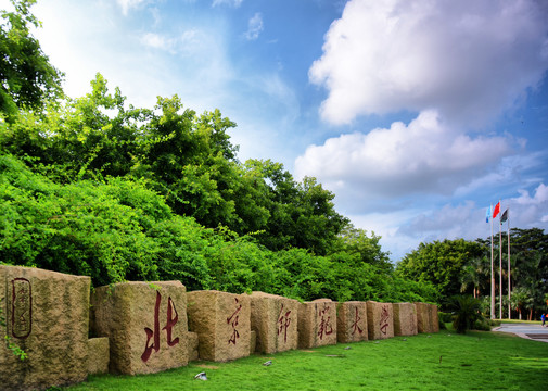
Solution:
<path fill-rule="evenodd" d="M 23 349 L 18 360 L 0 343 L 0 388 L 34 390 L 88 376 L 89 277 L 0 265 L 0 336 Z"/>

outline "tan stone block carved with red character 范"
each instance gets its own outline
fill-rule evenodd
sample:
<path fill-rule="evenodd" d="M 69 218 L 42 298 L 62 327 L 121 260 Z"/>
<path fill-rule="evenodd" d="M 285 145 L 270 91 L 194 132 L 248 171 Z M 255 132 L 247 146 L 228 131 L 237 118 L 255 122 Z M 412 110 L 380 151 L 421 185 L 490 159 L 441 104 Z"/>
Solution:
<path fill-rule="evenodd" d="M 301 303 L 297 328 L 301 349 L 336 344 L 336 303 L 329 299 Z"/>

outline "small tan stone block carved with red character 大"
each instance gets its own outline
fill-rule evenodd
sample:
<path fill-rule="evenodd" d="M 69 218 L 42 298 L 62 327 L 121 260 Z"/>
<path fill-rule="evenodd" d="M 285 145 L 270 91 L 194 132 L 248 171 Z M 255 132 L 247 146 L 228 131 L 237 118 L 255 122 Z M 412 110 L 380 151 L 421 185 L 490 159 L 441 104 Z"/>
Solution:
<path fill-rule="evenodd" d="M 367 303 L 351 301 L 336 308 L 336 339 L 340 343 L 366 341 Z"/>

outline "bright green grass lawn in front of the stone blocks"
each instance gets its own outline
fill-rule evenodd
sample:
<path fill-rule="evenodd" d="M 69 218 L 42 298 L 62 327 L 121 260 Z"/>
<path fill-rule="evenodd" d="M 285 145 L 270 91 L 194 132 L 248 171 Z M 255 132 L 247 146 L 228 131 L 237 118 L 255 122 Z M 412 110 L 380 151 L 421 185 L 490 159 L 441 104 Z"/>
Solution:
<path fill-rule="evenodd" d="M 346 346 L 351 349 L 345 350 Z M 263 366 L 267 360 L 271 366 Z M 208 380 L 194 380 L 200 371 Z M 77 390 L 544 390 L 548 343 L 453 331 L 337 344 L 146 376 L 91 376 Z"/>

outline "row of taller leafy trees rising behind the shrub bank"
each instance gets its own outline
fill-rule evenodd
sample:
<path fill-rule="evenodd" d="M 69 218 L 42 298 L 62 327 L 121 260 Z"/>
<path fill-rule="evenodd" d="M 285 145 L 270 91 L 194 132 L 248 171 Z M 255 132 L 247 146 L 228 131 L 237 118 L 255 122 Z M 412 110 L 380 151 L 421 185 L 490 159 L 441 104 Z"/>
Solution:
<path fill-rule="evenodd" d="M 31 156 L 31 167 L 60 184 L 126 177 L 144 180 L 178 215 L 219 225 L 271 250 L 307 249 L 326 255 L 348 223 L 334 194 L 315 178 L 296 182 L 279 163 L 235 159 L 227 129 L 235 124 L 218 110 L 196 115 L 177 97 L 158 98 L 154 110 L 125 108 L 98 74 L 92 91 L 43 115 L 22 111 L 0 124 L 5 152 Z"/>

